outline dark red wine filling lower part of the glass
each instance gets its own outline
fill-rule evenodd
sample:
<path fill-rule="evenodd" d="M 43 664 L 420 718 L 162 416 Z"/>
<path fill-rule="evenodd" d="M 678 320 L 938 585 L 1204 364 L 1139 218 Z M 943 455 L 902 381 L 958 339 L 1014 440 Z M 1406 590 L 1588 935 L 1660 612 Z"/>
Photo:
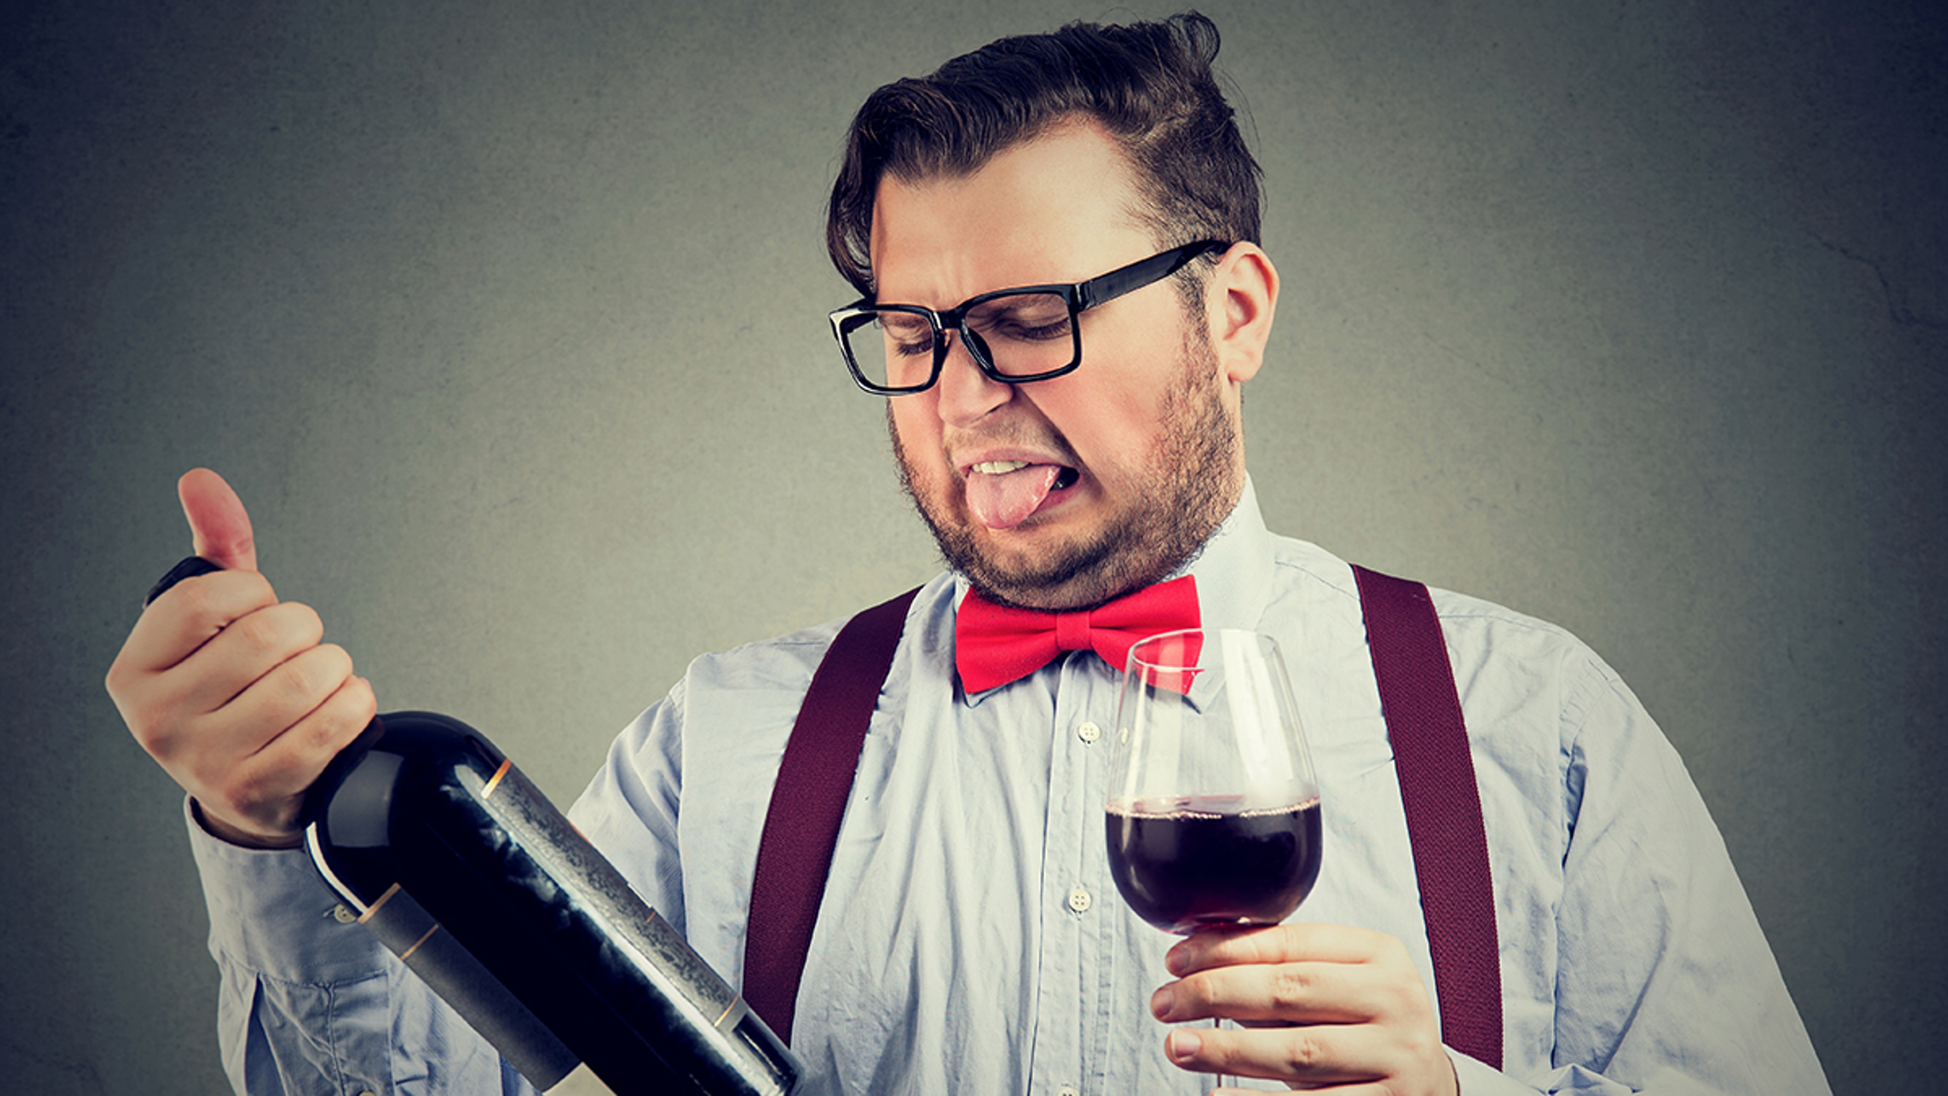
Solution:
<path fill-rule="evenodd" d="M 1237 796 L 1108 805 L 1108 870 L 1165 932 L 1278 924 L 1319 880 L 1319 798 L 1241 809 Z"/>

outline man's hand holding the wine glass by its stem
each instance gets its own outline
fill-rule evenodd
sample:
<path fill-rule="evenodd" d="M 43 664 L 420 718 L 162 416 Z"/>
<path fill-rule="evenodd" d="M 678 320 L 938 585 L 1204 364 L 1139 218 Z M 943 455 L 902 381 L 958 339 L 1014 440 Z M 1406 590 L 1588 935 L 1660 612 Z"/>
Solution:
<path fill-rule="evenodd" d="M 1171 948 L 1179 981 L 1149 1008 L 1163 1022 L 1223 1016 L 1249 1030 L 1179 1028 L 1171 1061 L 1196 1073 L 1268 1076 L 1292 1088 L 1453 1096 L 1453 1063 L 1406 948 L 1342 924 L 1216 928 Z"/>

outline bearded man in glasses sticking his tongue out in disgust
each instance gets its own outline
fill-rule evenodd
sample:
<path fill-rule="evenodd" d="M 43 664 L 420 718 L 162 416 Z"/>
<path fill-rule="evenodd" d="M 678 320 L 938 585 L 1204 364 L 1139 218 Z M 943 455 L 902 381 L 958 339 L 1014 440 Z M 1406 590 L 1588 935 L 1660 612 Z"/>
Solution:
<path fill-rule="evenodd" d="M 1196 1092 L 1223 1073 L 1823 1092 L 1662 733 L 1560 630 L 1445 593 L 1504 1063 L 1442 1045 L 1352 573 L 1272 536 L 1245 476 L 1239 398 L 1278 273 L 1216 45 L 1196 16 L 1005 39 L 853 121 L 828 238 L 863 300 L 834 330 L 855 380 L 888 394 L 904 484 L 953 569 L 908 610 L 861 749 L 793 1022 L 805 1090 Z M 158 599 L 109 688 L 191 794 L 232 1078 L 520 1090 L 277 850 L 376 704 L 318 616 L 255 573 L 228 488 L 185 476 L 183 505 L 197 552 L 230 569 Z M 1206 628 L 1276 636 L 1305 698 L 1327 870 L 1303 922 L 1175 940 L 1136 920 L 1101 831 L 1118 667 L 1075 649 L 988 679 L 956 651 L 980 603 L 1087 610 L 1180 575 Z M 697 659 L 571 811 L 732 983 L 777 759 L 834 632 Z"/>

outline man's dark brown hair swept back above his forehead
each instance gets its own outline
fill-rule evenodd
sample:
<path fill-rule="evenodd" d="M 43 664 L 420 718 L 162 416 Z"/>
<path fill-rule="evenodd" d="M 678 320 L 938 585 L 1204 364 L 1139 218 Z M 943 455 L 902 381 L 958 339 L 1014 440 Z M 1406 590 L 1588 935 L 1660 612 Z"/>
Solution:
<path fill-rule="evenodd" d="M 826 215 L 832 265 L 873 296 L 873 199 L 884 174 L 968 176 L 1077 117 L 1101 125 L 1130 158 L 1159 246 L 1256 244 L 1258 162 L 1212 76 L 1216 57 L 1218 27 L 1184 12 L 1161 23 L 1005 37 L 931 76 L 886 84 L 845 135 Z"/>

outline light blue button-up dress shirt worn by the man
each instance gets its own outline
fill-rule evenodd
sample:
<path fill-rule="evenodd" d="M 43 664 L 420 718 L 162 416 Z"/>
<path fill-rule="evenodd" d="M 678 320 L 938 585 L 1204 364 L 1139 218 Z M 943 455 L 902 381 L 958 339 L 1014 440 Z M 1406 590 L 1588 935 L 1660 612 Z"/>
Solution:
<path fill-rule="evenodd" d="M 1325 868 L 1295 917 L 1399 936 L 1432 995 L 1350 568 L 1272 536 L 1247 484 L 1188 571 L 1204 624 L 1276 636 L 1293 679 L 1325 800 Z M 1169 1065 L 1147 1008 L 1175 938 L 1108 876 L 1116 671 L 1068 653 L 962 694 L 962 593 L 953 575 L 919 591 L 859 757 L 793 1020 L 801 1092 L 1204 1092 L 1212 1078 Z M 1629 688 L 1560 628 L 1434 601 L 1480 784 L 1504 991 L 1504 1069 L 1449 1051 L 1461 1090 L 1827 1092 L 1724 842 Z M 571 809 L 732 985 L 771 782 L 838 624 L 699 657 Z M 302 854 L 191 833 L 240 1090 L 528 1090 L 333 919 Z"/>

